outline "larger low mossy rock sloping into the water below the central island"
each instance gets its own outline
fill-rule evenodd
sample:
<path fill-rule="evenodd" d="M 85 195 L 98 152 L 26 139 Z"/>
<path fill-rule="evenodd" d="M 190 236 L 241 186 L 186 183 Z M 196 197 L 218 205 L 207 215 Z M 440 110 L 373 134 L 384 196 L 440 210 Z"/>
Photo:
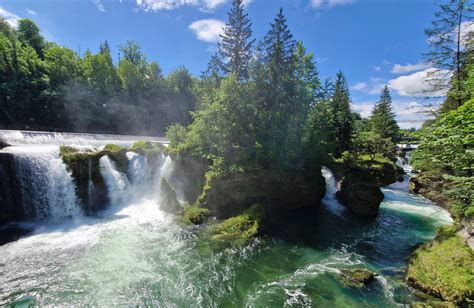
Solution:
<path fill-rule="evenodd" d="M 254 204 L 241 215 L 224 220 L 212 227 L 211 240 L 219 247 L 239 247 L 256 237 L 265 218 L 261 204 Z"/>

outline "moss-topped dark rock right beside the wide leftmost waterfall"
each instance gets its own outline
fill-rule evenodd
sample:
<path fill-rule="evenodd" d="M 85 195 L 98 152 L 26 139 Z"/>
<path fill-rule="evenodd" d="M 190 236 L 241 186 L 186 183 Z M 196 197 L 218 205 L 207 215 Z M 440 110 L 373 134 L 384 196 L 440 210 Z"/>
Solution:
<path fill-rule="evenodd" d="M 104 155 L 102 151 L 60 147 L 60 157 L 71 172 L 76 194 L 88 214 L 104 209 L 108 203 L 107 186 L 100 172 L 100 158 Z"/>

